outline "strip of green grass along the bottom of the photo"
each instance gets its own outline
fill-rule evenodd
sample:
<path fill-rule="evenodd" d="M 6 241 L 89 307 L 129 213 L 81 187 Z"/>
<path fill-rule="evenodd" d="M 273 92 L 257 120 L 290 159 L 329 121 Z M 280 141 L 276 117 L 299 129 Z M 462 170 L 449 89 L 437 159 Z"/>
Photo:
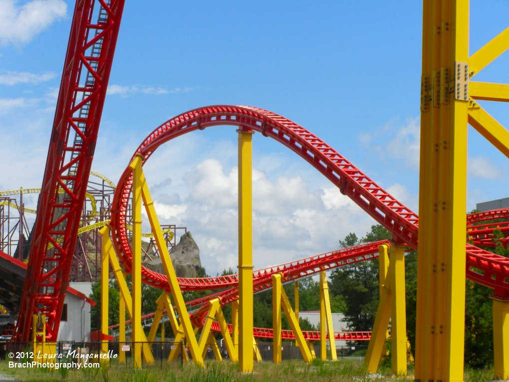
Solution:
<path fill-rule="evenodd" d="M 65 370 L 65 371 L 64 371 Z M 413 374 L 413 366 L 409 366 L 409 374 Z M 44 370 L 44 369 L 10 369 L 9 364 L 0 361 L 0 373 L 11 375 L 21 381 L 68 381 L 68 382 L 314 382 L 329 381 L 394 381 L 390 376 L 390 367 L 382 366 L 380 374 L 365 376 L 358 360 L 338 360 L 324 362 L 314 360 L 311 364 L 302 361 L 284 361 L 280 365 L 272 362 L 254 364 L 253 373 L 242 374 L 238 364 L 231 362 L 207 361 L 205 368 L 192 363 L 180 362 L 159 363 L 134 371 L 129 366 L 114 363 L 107 368 L 81 370 Z M 493 369 L 465 370 L 465 382 L 485 381 L 493 378 Z M 412 380 L 413 377 L 398 378 Z"/>

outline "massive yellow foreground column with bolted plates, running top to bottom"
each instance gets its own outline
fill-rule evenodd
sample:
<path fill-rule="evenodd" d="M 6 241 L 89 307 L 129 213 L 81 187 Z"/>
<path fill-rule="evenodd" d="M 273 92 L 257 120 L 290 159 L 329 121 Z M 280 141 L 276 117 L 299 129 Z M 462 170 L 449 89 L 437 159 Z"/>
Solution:
<path fill-rule="evenodd" d="M 422 25 L 415 379 L 462 381 L 468 0 L 425 0 Z"/>

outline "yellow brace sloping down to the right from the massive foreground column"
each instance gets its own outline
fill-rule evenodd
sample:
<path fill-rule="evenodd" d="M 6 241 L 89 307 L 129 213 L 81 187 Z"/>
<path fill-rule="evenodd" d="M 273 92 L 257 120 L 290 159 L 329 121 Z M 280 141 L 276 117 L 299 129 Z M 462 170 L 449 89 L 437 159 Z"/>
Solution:
<path fill-rule="evenodd" d="M 473 105 L 473 102 L 469 104 Z M 468 123 L 509 158 L 509 131 L 495 118 L 476 105 L 468 110 Z"/>

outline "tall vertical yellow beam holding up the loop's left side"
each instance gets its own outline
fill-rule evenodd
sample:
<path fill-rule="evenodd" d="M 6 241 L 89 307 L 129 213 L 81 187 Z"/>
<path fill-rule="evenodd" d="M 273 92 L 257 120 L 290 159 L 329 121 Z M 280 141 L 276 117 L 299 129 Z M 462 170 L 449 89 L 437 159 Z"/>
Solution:
<path fill-rule="evenodd" d="M 134 369 L 142 367 L 142 186 L 145 176 L 143 157 L 136 156 L 129 165 L 132 170 L 132 360 Z M 139 323 L 139 325 L 138 325 Z"/>

